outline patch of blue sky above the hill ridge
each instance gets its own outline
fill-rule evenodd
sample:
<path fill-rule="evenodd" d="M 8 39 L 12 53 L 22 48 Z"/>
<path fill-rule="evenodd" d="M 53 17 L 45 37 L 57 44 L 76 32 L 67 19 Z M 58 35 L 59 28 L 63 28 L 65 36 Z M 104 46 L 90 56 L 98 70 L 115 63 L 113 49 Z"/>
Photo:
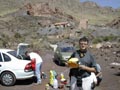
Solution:
<path fill-rule="evenodd" d="M 113 8 L 120 8 L 120 0 L 80 0 L 81 2 L 84 1 L 94 1 L 96 2 L 99 6 L 110 6 Z"/>

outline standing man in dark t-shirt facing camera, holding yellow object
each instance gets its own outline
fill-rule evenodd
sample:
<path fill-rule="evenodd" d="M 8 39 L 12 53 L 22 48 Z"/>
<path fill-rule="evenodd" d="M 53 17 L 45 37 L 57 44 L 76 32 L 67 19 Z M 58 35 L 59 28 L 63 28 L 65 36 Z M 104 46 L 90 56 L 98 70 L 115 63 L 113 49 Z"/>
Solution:
<path fill-rule="evenodd" d="M 76 50 L 71 58 L 79 59 L 79 67 L 70 69 L 70 90 L 92 90 L 93 83 L 91 73 L 96 72 L 96 62 L 88 51 L 89 40 L 82 37 L 79 40 L 79 50 Z"/>

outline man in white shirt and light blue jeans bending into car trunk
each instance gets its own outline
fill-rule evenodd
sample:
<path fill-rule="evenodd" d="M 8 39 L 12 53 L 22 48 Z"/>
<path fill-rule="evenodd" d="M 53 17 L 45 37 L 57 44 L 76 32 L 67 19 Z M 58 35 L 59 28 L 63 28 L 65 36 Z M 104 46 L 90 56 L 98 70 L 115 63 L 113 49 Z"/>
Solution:
<path fill-rule="evenodd" d="M 43 60 L 41 58 L 41 56 L 35 52 L 31 52 L 29 53 L 30 59 L 35 59 L 36 60 L 36 68 L 35 68 L 35 74 L 37 77 L 37 84 L 41 84 L 42 80 L 41 80 L 41 69 L 42 69 L 42 63 Z"/>

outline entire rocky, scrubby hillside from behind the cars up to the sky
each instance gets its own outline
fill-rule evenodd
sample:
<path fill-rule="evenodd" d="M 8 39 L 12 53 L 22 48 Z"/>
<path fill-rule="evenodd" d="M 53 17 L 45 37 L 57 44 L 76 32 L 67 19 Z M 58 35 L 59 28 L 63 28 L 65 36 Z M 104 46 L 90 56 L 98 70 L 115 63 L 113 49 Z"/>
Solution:
<path fill-rule="evenodd" d="M 49 48 L 48 42 L 56 43 L 71 38 L 74 41 L 81 34 L 93 39 L 101 32 L 98 35 L 101 37 L 105 30 L 104 26 L 120 16 L 120 9 L 101 7 L 94 2 L 80 3 L 79 0 L 0 0 L 0 2 L 0 47 L 14 48 L 20 42 L 27 42 L 36 48 Z M 37 14 L 28 15 L 27 5 L 30 5 L 32 13 Z M 88 31 L 81 31 L 78 28 L 82 19 L 88 20 Z M 64 23 L 69 24 L 68 27 Z M 54 27 L 56 24 L 63 26 Z M 107 38 L 111 34 L 116 36 L 119 34 L 119 30 L 110 29 L 112 32 L 109 32 L 109 28 L 106 29 Z"/>

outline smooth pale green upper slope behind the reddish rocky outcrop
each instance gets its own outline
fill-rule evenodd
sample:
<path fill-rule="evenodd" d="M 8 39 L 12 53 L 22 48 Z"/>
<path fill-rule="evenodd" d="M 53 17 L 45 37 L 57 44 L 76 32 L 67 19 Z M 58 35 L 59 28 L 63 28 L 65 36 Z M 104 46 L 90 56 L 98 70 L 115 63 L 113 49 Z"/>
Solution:
<path fill-rule="evenodd" d="M 111 7 L 101 7 L 94 2 L 80 3 L 79 0 L 0 0 L 0 16 L 12 13 L 22 8 L 27 3 L 49 3 L 52 8 L 59 8 L 79 20 L 87 18 L 91 24 L 107 23 L 120 16 L 120 10 Z M 72 7 L 71 7 L 72 6 Z"/>

